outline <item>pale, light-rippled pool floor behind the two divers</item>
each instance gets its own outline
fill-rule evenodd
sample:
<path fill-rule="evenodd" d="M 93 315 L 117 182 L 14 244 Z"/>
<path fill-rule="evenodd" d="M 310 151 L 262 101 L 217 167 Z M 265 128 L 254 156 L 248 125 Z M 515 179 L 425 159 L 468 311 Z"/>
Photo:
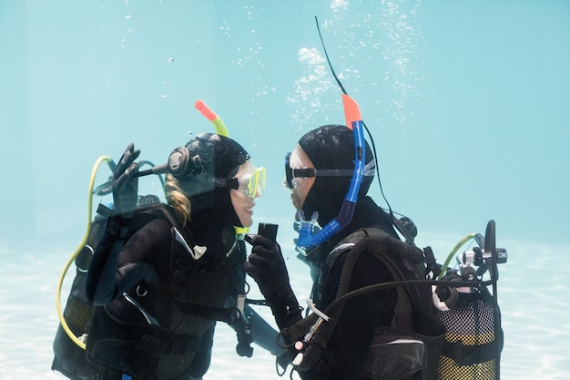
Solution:
<path fill-rule="evenodd" d="M 520 242 L 499 245 L 509 252 L 509 262 L 500 266 L 498 292 L 505 334 L 501 377 L 570 379 L 570 287 L 565 266 L 556 265 L 555 259 L 568 249 Z M 307 268 L 294 258 L 290 247 L 285 245 L 284 251 L 293 288 L 304 299 L 309 292 Z M 67 256 L 0 252 L 0 378 L 65 378 L 52 372 L 50 365 L 58 323 L 56 282 Z M 259 295 L 255 289 L 252 292 L 252 298 Z M 66 290 L 62 297 L 65 301 Z M 260 313 L 270 319 L 267 310 Z M 206 379 L 278 378 L 269 353 L 254 346 L 254 356 L 243 358 L 235 354 L 235 345 L 233 330 L 219 324 Z"/>

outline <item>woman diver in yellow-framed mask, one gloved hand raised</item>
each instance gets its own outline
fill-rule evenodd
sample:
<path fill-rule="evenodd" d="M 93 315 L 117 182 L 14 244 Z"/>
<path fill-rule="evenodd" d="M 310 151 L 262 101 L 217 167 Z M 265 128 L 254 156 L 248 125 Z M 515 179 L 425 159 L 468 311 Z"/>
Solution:
<path fill-rule="evenodd" d="M 97 305 L 87 358 L 97 380 L 200 378 L 216 321 L 239 318 L 225 307 L 242 271 L 234 227 L 252 224 L 265 169 L 233 139 L 200 134 L 165 165 L 168 205 L 142 207 L 139 153 L 130 144 L 117 163 L 114 210 L 87 272 Z"/>

